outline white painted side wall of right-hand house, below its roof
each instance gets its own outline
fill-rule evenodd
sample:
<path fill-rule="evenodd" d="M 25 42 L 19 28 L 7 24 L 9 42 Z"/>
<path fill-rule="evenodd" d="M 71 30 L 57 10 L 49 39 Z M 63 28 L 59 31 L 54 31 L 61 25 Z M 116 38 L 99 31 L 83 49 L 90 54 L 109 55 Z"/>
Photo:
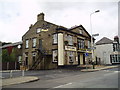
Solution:
<path fill-rule="evenodd" d="M 95 56 L 101 59 L 102 64 L 110 63 L 110 54 L 113 52 L 113 44 L 95 45 Z"/>

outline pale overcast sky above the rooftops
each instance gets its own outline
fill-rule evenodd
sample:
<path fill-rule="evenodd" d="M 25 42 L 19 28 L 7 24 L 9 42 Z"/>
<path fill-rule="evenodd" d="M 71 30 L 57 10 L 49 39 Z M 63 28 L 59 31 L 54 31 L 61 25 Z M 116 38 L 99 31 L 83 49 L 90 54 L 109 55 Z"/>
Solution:
<path fill-rule="evenodd" d="M 37 21 L 37 15 L 45 14 L 45 20 L 67 28 L 83 27 L 91 34 L 99 33 L 113 39 L 118 35 L 118 0 L 0 0 L 0 41 L 19 42 L 29 26 Z"/>

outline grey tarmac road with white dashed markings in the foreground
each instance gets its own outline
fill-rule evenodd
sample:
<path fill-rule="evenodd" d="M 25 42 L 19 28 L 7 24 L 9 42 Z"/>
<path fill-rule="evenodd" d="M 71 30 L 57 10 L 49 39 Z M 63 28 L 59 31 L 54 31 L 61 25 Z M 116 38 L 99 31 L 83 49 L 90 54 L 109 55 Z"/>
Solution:
<path fill-rule="evenodd" d="M 118 81 L 120 81 L 118 73 L 118 68 L 96 72 L 81 72 L 80 70 L 62 69 L 28 71 L 25 72 L 25 75 L 38 76 L 40 80 L 4 86 L 3 88 L 118 88 Z"/>

